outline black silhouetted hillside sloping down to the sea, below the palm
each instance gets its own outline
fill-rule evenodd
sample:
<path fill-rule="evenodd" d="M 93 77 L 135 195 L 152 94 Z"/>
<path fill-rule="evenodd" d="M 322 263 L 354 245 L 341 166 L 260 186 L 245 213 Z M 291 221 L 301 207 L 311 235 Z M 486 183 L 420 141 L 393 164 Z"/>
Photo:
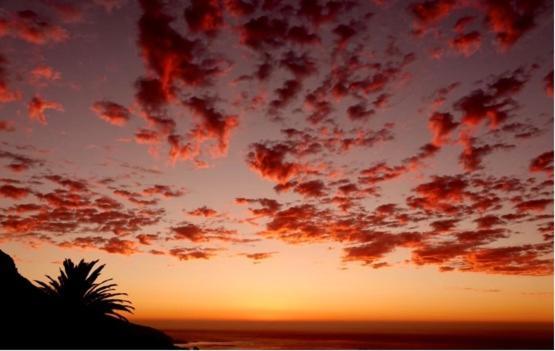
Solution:
<path fill-rule="evenodd" d="M 19 274 L 0 250 L 0 349 L 175 349 L 154 328 L 66 311 Z"/>

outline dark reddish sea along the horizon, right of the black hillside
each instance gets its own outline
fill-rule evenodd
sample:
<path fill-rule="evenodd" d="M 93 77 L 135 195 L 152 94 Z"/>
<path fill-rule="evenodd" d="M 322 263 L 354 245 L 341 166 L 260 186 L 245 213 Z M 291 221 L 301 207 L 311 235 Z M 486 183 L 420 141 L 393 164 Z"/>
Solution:
<path fill-rule="evenodd" d="M 143 321 L 200 349 L 553 349 L 553 323 Z"/>

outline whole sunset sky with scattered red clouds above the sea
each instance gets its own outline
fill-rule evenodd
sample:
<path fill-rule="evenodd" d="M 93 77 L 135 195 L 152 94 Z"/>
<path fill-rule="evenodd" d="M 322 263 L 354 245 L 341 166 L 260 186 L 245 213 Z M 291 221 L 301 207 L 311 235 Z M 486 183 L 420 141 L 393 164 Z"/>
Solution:
<path fill-rule="evenodd" d="M 546 0 L 3 1 L 0 247 L 137 319 L 553 321 Z"/>

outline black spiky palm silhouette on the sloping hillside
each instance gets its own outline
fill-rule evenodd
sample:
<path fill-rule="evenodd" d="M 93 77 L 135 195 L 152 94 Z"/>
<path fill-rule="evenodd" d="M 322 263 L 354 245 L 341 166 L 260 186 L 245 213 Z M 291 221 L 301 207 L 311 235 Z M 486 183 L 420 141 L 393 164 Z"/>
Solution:
<path fill-rule="evenodd" d="M 70 259 L 65 259 L 63 270 L 60 268 L 60 275 L 56 280 L 47 275 L 48 282 L 36 282 L 42 291 L 57 299 L 69 311 L 127 320 L 119 313 L 133 313 L 131 302 L 120 298 L 127 294 L 115 292 L 117 284 L 109 283 L 112 279 L 96 282 L 104 269 L 104 265 L 101 265 L 93 270 L 97 263 L 98 260 L 81 260 L 75 265 Z"/>

